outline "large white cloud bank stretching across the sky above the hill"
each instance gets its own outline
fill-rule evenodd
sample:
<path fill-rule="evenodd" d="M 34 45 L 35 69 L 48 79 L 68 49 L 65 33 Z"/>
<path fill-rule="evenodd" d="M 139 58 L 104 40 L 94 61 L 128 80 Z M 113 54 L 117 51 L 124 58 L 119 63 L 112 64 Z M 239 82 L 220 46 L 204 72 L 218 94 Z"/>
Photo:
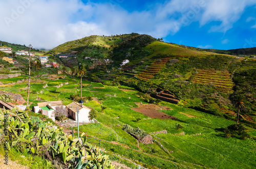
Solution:
<path fill-rule="evenodd" d="M 201 26 L 219 21 L 220 24 L 212 26 L 210 31 L 225 32 L 252 4 L 256 2 L 169 0 L 144 11 L 128 12 L 116 4 L 90 1 L 83 4 L 81 0 L 1 1 L 0 40 L 51 49 L 90 35 L 137 32 L 164 38 L 195 21 Z"/>

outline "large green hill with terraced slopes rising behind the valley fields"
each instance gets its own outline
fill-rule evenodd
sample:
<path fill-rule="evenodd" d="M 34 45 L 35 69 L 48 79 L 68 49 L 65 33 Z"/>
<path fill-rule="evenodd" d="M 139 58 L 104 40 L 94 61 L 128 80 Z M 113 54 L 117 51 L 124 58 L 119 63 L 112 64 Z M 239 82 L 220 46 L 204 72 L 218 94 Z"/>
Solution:
<path fill-rule="evenodd" d="M 84 57 L 99 60 L 109 58 L 114 61 L 114 64 L 109 65 L 99 62 L 98 66 L 88 68 L 92 80 L 104 80 L 102 77 L 108 77 L 104 75 L 106 68 L 119 66 L 124 59 L 128 59 L 130 63 L 122 66 L 124 75 L 128 75 L 126 80 L 121 80 L 125 85 L 152 96 L 156 95 L 156 89 L 160 87 L 175 94 L 182 100 L 181 103 L 184 101 L 184 106 L 214 114 L 220 114 L 218 112 L 221 110 L 234 110 L 231 106 L 232 98 L 242 94 L 246 95 L 245 102 L 250 105 L 246 112 L 255 115 L 255 81 L 251 81 L 256 71 L 255 59 L 227 55 L 229 51 L 203 50 L 165 43 L 137 33 L 84 37 L 63 43 L 47 55 L 72 51 L 79 52 L 77 59 L 56 60 L 73 69 L 79 63 L 86 67 L 96 64 L 89 60 L 86 62 Z M 108 79 L 115 79 L 117 76 L 109 76 Z"/>

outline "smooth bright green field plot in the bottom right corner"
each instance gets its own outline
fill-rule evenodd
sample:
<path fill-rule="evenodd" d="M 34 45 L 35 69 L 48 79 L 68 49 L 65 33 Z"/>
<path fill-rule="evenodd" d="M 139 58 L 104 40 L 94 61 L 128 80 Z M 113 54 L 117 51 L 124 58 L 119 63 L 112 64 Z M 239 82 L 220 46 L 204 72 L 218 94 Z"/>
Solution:
<path fill-rule="evenodd" d="M 159 140 L 174 157 L 181 160 L 192 160 L 199 165 L 212 168 L 253 168 L 256 154 L 253 140 L 238 140 L 223 137 L 222 133 L 175 136 L 158 134 Z M 243 146 L 241 146 L 243 145 Z M 183 153 L 183 156 L 181 156 Z M 193 161 L 191 161 L 193 162 Z"/>

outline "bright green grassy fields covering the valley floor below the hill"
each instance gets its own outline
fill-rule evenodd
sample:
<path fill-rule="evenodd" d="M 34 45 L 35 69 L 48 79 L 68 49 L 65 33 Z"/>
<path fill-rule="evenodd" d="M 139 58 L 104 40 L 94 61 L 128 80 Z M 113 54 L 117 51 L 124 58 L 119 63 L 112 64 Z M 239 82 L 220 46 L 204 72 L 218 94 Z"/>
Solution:
<path fill-rule="evenodd" d="M 27 79 L 27 77 L 24 78 Z M 11 80 L 16 82 L 20 79 L 9 79 L 9 81 Z M 5 83 L 9 81 L 6 80 Z M 42 101 L 62 100 L 67 105 L 72 102 L 69 98 L 70 94 L 80 92 L 79 81 L 80 79 L 62 75 L 58 77 L 44 76 L 39 80 L 32 78 L 30 102 L 34 106 Z M 25 81 L 8 86 L 2 85 L 0 90 L 18 92 L 26 97 L 26 83 Z M 43 88 L 46 84 L 48 87 Z M 63 86 L 56 87 L 60 84 Z M 112 81 L 104 81 L 102 85 L 83 80 L 82 95 L 92 96 L 99 101 L 87 101 L 84 105 L 97 110 L 98 117 L 96 119 L 101 124 L 83 125 L 80 126 L 79 131 L 85 132 L 91 138 L 101 139 L 101 148 L 105 149 L 103 154 L 110 155 L 110 159 L 113 161 L 119 161 L 134 168 L 133 163 L 128 163 L 125 160 L 129 159 L 143 167 L 154 168 L 153 166 L 155 166 L 166 169 L 253 168 L 256 165 L 253 160 L 256 158 L 255 140 L 252 138 L 239 139 L 240 136 L 231 138 L 224 136 L 223 128 L 235 124 L 234 120 L 166 102 L 161 102 L 158 105 L 165 106 L 164 110 L 158 111 L 178 119 L 150 118 L 131 109 L 138 107 L 135 103 L 140 102 L 147 107 L 147 103 L 138 96 L 138 92 L 134 88 L 112 86 Z M 106 107 L 104 111 L 101 111 L 102 106 Z M 151 144 L 138 143 L 134 137 L 122 130 L 124 124 L 143 129 L 150 133 L 155 141 Z M 177 124 L 183 128 L 177 129 Z M 246 128 L 252 137 L 256 136 L 255 129 Z M 162 130 L 166 130 L 167 134 L 151 133 Z M 179 135 L 182 132 L 184 135 Z M 31 161 L 27 165 L 35 164 Z M 38 165 L 35 166 L 38 167 Z"/>

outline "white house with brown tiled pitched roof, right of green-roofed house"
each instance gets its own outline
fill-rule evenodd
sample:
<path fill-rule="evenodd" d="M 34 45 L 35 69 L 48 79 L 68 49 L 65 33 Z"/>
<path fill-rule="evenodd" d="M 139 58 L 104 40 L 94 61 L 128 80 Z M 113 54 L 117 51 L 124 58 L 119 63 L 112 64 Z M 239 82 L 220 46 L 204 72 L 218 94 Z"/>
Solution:
<path fill-rule="evenodd" d="M 89 109 L 88 107 L 86 107 L 84 105 L 82 105 L 82 107 L 81 107 L 76 102 L 72 102 L 71 104 L 67 105 L 67 107 L 69 108 L 69 115 L 71 115 L 74 118 L 74 120 L 77 121 L 77 108 L 78 108 L 79 123 L 91 123 L 91 120 L 89 119 L 89 114 L 90 114 L 91 109 Z"/>

